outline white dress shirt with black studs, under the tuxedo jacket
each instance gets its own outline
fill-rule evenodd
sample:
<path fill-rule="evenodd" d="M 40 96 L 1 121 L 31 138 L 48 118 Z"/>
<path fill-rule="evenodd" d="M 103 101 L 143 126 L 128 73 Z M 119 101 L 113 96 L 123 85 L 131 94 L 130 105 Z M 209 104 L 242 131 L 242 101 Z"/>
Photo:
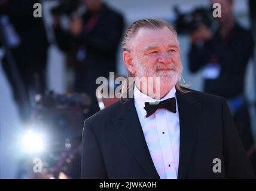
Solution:
<path fill-rule="evenodd" d="M 163 101 L 176 98 L 175 87 L 169 93 L 155 100 L 138 90 L 135 85 L 134 100 L 139 122 L 150 150 L 154 166 L 161 179 L 176 179 L 179 167 L 179 112 L 176 100 L 176 113 L 167 109 L 157 109 L 153 115 L 146 118 L 145 102 Z"/>

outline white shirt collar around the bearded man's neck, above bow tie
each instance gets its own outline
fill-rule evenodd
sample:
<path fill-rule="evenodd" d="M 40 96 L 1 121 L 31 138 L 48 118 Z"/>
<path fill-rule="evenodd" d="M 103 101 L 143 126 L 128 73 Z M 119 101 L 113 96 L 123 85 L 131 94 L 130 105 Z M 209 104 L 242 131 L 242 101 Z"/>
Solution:
<path fill-rule="evenodd" d="M 166 94 L 166 96 L 164 96 L 160 100 L 156 100 L 156 99 L 154 99 L 154 98 L 152 98 L 150 96 L 147 96 L 146 94 L 142 93 L 141 91 L 139 91 L 139 89 L 135 85 L 133 96 L 134 96 L 135 103 L 138 105 L 139 110 L 140 110 L 142 116 L 145 117 L 147 115 L 147 112 L 144 109 L 145 102 L 163 101 L 163 100 L 167 100 L 167 99 L 172 98 L 172 97 L 176 98 L 176 88 L 173 87 L 169 91 L 169 93 Z M 177 100 L 176 100 L 176 111 L 178 111 Z"/>

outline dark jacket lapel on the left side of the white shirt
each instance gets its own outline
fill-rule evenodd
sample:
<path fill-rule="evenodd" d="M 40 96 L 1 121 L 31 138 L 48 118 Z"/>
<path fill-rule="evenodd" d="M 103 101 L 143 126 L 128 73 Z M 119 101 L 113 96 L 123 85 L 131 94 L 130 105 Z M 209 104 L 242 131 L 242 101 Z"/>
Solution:
<path fill-rule="evenodd" d="M 112 122 L 148 178 L 160 178 L 151 159 L 133 99 L 124 103 L 120 115 Z"/>

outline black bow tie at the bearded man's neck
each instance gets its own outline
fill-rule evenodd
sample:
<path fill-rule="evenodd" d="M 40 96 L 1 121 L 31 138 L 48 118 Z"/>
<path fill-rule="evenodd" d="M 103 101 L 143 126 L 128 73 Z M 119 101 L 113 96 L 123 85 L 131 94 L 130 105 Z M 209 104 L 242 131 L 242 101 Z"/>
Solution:
<path fill-rule="evenodd" d="M 172 97 L 164 101 L 156 101 L 155 103 L 145 102 L 144 109 L 147 112 L 147 118 L 156 112 L 157 109 L 167 109 L 170 112 L 176 113 L 176 100 L 175 97 Z"/>

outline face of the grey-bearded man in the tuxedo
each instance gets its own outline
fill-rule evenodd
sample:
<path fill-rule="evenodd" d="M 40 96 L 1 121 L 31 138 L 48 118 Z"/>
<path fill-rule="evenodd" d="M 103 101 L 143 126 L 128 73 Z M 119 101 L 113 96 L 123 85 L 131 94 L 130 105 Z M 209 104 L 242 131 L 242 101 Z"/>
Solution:
<path fill-rule="evenodd" d="M 168 29 L 139 29 L 131 52 L 136 77 L 160 77 L 161 88 L 172 88 L 181 76 L 179 42 Z"/>

